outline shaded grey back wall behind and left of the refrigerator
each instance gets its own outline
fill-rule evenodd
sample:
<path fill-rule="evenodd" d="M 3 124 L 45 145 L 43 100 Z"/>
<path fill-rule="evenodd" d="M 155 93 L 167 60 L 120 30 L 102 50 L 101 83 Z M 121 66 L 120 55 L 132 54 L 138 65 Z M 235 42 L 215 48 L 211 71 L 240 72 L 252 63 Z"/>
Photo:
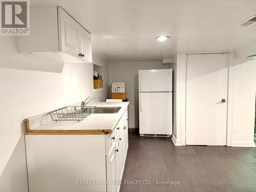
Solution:
<path fill-rule="evenodd" d="M 160 61 L 142 62 L 110 62 L 109 63 L 109 93 L 113 81 L 124 81 L 126 98 L 129 99 L 129 127 L 139 127 L 139 84 L 138 70 L 143 69 L 168 69 L 169 65 L 163 65 Z"/>

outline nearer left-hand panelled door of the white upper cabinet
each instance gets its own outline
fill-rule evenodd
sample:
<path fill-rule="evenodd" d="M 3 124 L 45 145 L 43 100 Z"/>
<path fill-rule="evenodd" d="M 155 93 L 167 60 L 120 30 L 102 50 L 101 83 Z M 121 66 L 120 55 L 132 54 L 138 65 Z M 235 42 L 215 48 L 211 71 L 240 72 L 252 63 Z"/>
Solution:
<path fill-rule="evenodd" d="M 59 50 L 79 57 L 79 24 L 63 9 L 58 7 Z"/>

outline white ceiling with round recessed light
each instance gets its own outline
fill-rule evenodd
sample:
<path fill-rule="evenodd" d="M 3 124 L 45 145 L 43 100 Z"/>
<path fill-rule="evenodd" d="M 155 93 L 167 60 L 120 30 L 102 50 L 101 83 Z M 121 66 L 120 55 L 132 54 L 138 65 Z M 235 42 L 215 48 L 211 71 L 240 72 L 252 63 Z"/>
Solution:
<path fill-rule="evenodd" d="M 178 52 L 256 53 L 255 0 L 30 0 L 57 5 L 92 34 L 93 52 L 109 61 L 160 61 Z M 172 38 L 160 42 L 157 36 Z M 241 51 L 243 52 L 243 51 Z"/>

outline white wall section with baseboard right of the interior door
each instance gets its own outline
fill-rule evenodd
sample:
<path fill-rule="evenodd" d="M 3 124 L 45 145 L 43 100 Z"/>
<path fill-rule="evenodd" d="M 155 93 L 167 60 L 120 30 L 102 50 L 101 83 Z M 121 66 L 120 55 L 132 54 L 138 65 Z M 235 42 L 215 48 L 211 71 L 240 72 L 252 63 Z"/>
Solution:
<path fill-rule="evenodd" d="M 256 60 L 235 59 L 231 146 L 254 146 Z"/>

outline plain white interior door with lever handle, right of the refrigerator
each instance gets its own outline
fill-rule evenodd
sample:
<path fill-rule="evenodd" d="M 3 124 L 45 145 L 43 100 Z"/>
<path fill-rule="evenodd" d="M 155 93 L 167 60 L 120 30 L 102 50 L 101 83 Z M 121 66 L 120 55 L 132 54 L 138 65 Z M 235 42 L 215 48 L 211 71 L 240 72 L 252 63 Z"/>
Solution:
<path fill-rule="evenodd" d="M 228 62 L 228 54 L 187 55 L 187 145 L 226 145 Z"/>

